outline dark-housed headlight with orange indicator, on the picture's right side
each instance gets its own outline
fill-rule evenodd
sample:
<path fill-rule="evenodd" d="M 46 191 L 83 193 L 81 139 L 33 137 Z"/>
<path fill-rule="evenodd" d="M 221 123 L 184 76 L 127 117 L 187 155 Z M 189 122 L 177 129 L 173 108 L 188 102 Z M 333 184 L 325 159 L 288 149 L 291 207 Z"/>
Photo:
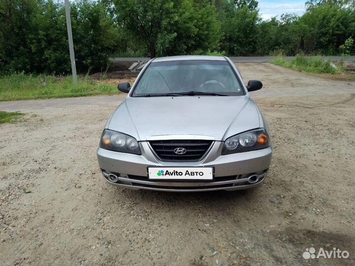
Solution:
<path fill-rule="evenodd" d="M 222 155 L 255 151 L 269 146 L 269 136 L 265 129 L 251 130 L 227 138 L 226 141 L 224 141 Z"/>

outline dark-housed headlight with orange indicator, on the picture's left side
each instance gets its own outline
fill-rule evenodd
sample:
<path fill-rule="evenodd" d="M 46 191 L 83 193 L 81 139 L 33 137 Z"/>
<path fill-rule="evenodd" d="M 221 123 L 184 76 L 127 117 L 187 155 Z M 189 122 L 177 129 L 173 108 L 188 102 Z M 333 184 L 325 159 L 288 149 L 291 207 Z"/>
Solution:
<path fill-rule="evenodd" d="M 141 155 L 137 139 L 112 130 L 104 130 L 101 136 L 100 148 Z"/>

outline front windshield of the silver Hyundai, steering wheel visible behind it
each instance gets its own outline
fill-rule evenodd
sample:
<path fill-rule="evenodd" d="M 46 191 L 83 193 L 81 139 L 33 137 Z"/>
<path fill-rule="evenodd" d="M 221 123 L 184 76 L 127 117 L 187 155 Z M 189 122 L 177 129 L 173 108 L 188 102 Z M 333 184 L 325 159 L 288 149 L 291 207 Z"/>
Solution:
<path fill-rule="evenodd" d="M 227 61 L 165 61 L 146 68 L 132 97 L 169 94 L 240 96 L 244 91 Z"/>

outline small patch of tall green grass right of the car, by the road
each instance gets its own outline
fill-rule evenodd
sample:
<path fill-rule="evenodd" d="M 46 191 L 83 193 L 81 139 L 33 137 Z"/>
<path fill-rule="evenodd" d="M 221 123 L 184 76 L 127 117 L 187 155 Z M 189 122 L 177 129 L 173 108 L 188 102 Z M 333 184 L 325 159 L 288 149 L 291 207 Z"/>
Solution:
<path fill-rule="evenodd" d="M 330 61 L 323 60 L 321 57 L 305 57 L 303 55 L 297 55 L 290 61 L 285 60 L 283 56 L 278 56 L 270 63 L 309 73 L 339 74 L 343 70 L 341 65 L 334 68 Z"/>

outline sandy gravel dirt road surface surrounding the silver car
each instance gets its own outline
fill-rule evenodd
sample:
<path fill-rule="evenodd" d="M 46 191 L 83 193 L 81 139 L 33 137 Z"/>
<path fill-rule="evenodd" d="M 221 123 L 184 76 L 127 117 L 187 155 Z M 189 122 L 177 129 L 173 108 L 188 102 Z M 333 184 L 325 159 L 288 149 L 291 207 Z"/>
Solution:
<path fill-rule="evenodd" d="M 258 189 L 161 193 L 106 185 L 96 148 L 123 99 L 0 102 L 0 265 L 354 265 L 355 83 L 241 64 L 269 121 Z M 302 258 L 306 248 L 348 259 Z"/>

